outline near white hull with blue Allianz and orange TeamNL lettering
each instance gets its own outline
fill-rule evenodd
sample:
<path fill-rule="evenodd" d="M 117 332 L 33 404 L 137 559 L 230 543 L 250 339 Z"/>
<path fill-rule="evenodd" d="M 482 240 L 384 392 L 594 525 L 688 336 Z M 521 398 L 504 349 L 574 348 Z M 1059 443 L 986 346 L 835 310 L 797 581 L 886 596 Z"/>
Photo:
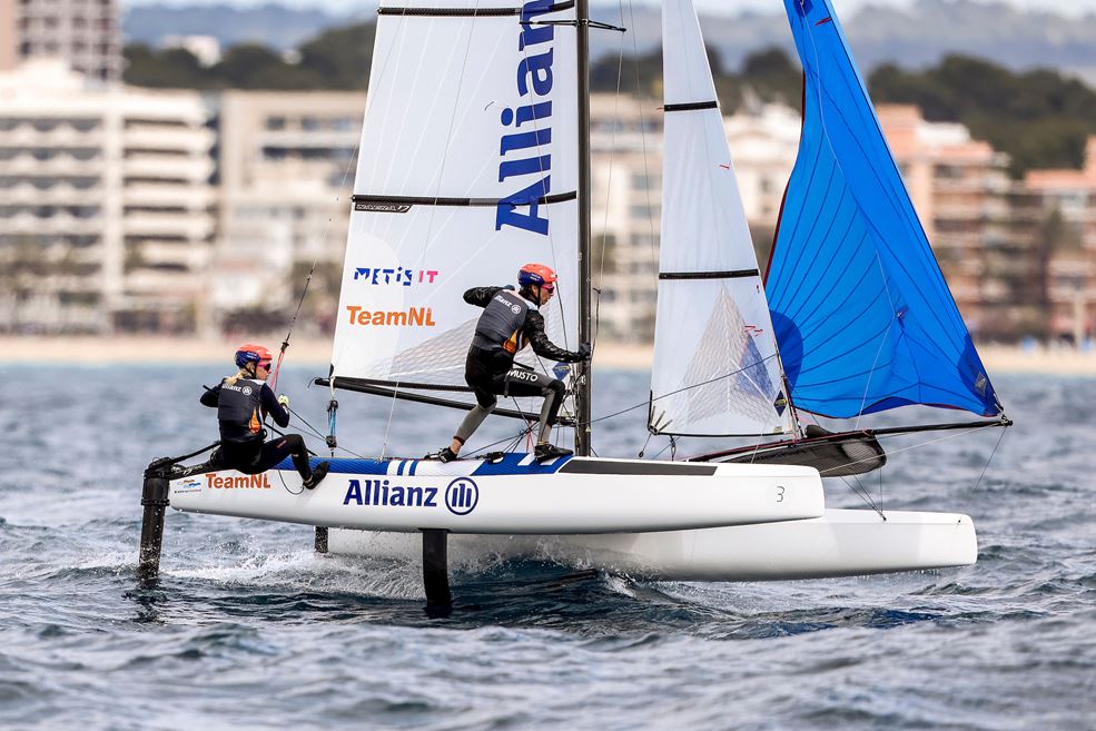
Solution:
<path fill-rule="evenodd" d="M 171 506 L 329 527 L 476 534 L 642 533 L 802 520 L 822 514 L 818 472 L 787 465 L 563 458 L 338 460 L 315 491 L 294 471 L 199 474 L 170 485 Z M 279 465 L 285 467 L 286 464 Z"/>

